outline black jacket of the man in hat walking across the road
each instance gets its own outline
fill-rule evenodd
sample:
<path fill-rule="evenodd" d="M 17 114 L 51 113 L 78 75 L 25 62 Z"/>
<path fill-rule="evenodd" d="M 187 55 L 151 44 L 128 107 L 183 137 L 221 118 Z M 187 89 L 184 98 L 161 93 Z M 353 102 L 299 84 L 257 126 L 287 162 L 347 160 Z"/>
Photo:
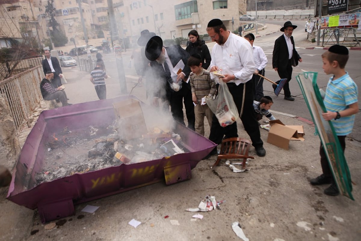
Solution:
<path fill-rule="evenodd" d="M 295 60 L 295 66 L 297 66 L 298 60 L 301 59 L 301 57 L 295 49 L 295 41 L 293 41 L 293 36 L 291 36 L 291 43 L 293 44 L 292 58 L 293 60 Z M 286 39 L 282 34 L 274 42 L 272 68 L 286 69 L 288 63 L 288 56 L 289 54 Z"/>

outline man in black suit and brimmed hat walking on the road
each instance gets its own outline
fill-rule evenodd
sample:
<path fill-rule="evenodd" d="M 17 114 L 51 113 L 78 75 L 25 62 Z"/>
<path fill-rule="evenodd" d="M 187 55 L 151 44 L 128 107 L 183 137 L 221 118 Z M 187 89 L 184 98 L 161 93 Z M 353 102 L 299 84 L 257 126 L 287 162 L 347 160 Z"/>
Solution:
<path fill-rule="evenodd" d="M 302 62 L 300 55 L 295 49 L 295 41 L 293 41 L 292 33 L 296 28 L 296 25 L 292 25 L 291 21 L 284 23 L 283 27 L 280 29 L 281 32 L 284 32 L 281 36 L 276 39 L 274 42 L 273 56 L 272 56 L 272 68 L 277 71 L 281 79 L 288 79 L 286 84 L 283 86 L 284 99 L 285 100 L 295 100 L 291 96 L 290 82 L 292 78 L 292 66 L 297 66 L 298 62 Z M 276 82 L 277 84 L 279 81 Z M 272 85 L 275 90 L 277 85 Z"/>

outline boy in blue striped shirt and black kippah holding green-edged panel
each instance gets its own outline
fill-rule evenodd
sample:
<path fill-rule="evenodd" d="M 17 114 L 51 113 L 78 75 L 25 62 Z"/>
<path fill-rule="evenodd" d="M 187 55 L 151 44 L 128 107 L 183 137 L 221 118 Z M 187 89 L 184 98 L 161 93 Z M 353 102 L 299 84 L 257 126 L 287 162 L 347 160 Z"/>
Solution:
<path fill-rule="evenodd" d="M 322 113 L 323 119 L 331 121 L 343 152 L 345 137 L 352 132 L 355 114 L 358 112 L 357 85 L 345 71 L 348 50 L 344 46 L 334 45 L 322 54 L 323 71 L 333 74 L 327 83 L 326 95 L 323 99 L 327 112 Z M 323 146 L 319 149 L 322 174 L 310 180 L 312 185 L 331 184 L 324 193 L 331 196 L 339 194 L 336 182 L 332 177 Z"/>

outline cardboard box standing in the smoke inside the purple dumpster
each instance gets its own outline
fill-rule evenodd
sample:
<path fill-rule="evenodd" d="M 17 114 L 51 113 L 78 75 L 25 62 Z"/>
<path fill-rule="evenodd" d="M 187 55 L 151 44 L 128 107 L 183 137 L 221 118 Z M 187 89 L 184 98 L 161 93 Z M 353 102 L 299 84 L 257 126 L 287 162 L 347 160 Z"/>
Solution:
<path fill-rule="evenodd" d="M 147 125 L 138 100 L 126 99 L 113 103 L 113 107 L 118 120 L 117 131 L 121 138 L 130 140 L 147 134 Z"/>

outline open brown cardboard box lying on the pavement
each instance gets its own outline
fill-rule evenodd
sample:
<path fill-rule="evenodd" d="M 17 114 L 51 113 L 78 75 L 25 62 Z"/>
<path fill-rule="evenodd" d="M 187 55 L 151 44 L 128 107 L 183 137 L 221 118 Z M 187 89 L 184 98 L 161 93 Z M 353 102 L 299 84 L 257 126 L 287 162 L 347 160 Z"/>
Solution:
<path fill-rule="evenodd" d="M 280 120 L 270 121 L 267 142 L 280 148 L 289 149 L 290 140 L 304 141 L 302 125 L 285 125 Z"/>

